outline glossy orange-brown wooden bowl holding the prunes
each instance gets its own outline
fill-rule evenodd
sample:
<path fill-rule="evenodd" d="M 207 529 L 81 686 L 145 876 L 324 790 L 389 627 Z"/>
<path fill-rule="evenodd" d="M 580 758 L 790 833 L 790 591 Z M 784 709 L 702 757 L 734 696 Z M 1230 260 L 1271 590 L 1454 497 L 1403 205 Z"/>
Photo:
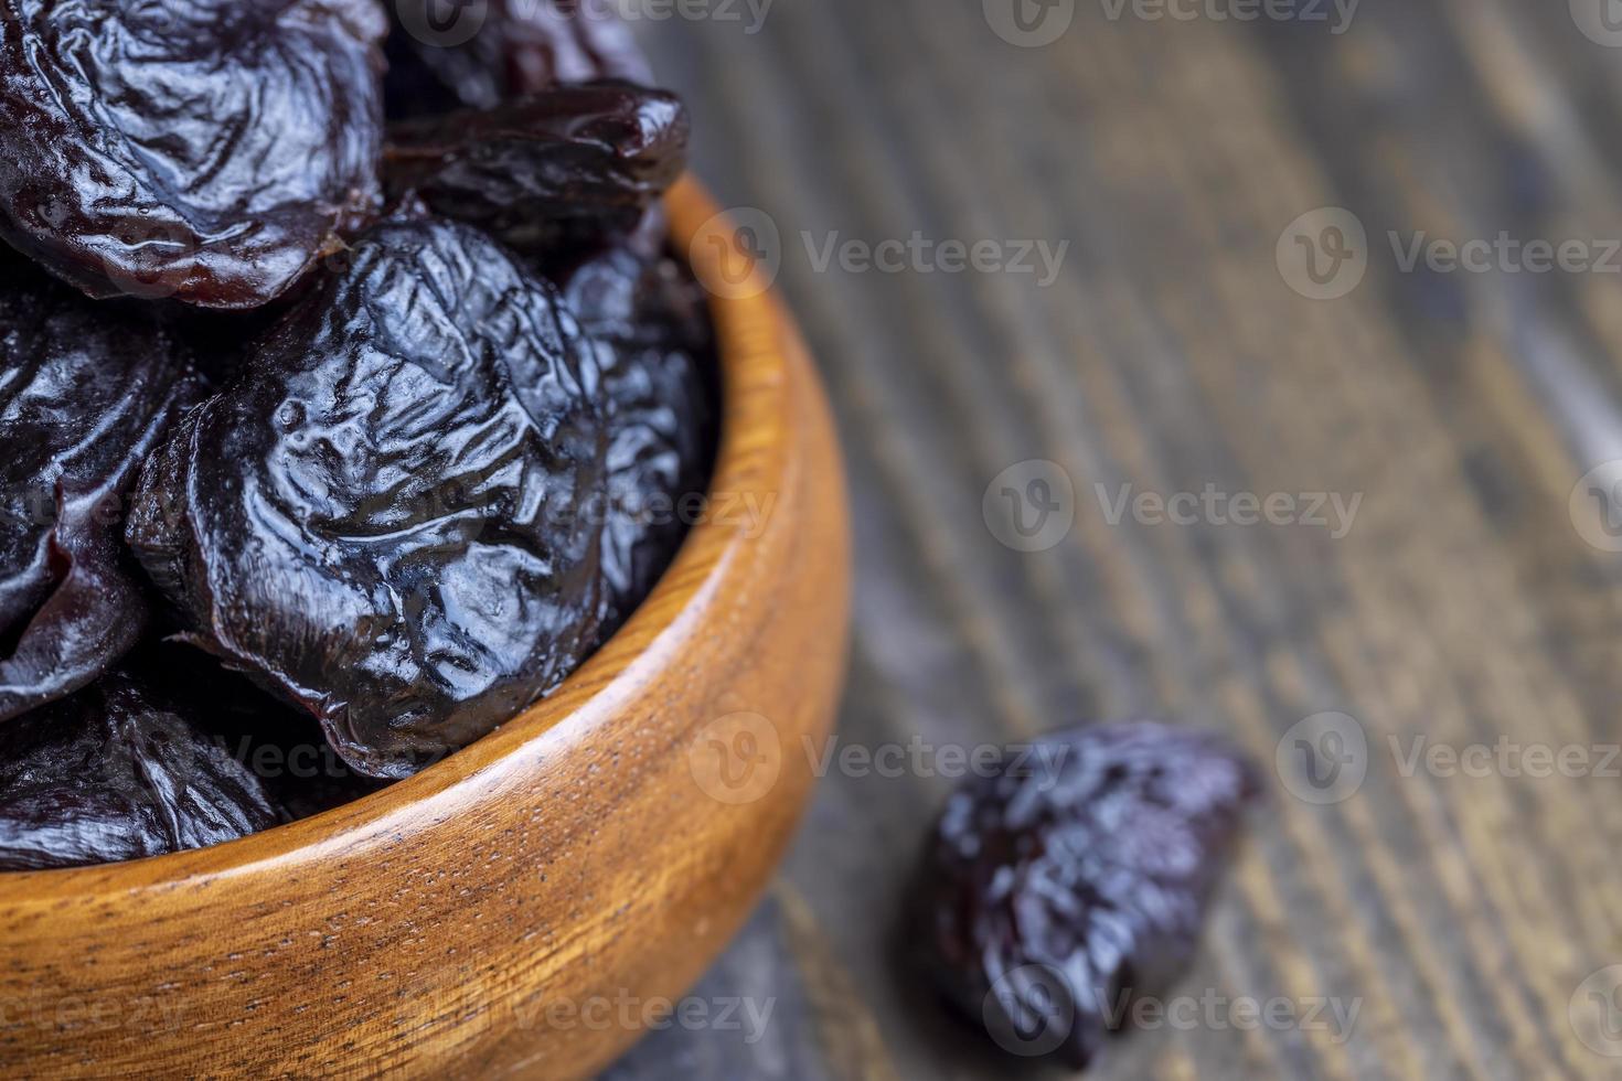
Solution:
<path fill-rule="evenodd" d="M 736 285 L 736 254 L 694 243 L 714 212 L 693 183 L 670 198 L 699 276 Z M 0 875 L 0 1075 L 579 1078 L 659 1019 L 772 875 L 843 671 L 840 460 L 762 287 L 714 303 L 712 517 L 631 622 L 521 718 L 355 804 Z"/>

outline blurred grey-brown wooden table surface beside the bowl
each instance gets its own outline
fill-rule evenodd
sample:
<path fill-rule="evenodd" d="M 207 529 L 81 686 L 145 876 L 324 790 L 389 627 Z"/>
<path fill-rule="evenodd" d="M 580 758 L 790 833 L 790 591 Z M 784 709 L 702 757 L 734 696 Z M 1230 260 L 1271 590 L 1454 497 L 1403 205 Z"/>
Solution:
<path fill-rule="evenodd" d="M 860 574 L 840 739 L 1161 716 L 1262 763 L 1268 804 L 1178 989 L 1218 1006 L 1090 1076 L 1607 1076 L 1622 545 L 1590 507 L 1617 476 L 1580 478 L 1622 459 L 1622 5 L 1366 0 L 1343 26 L 1319 0 L 1328 23 L 1124 2 L 1075 3 L 1041 47 L 993 31 L 1004 0 L 779 0 L 754 34 L 715 0 L 743 21 L 644 28 L 701 175 L 779 229 L 842 423 Z M 989 254 L 821 259 L 915 233 L 1069 246 L 1048 284 Z M 1500 235 L 1567 243 L 1564 266 Z M 1471 240 L 1471 269 L 1435 246 Z M 1023 553 L 983 496 L 1032 460 L 1071 481 L 1074 525 Z M 1132 502 L 1178 493 L 1296 501 L 1259 525 L 1242 502 L 1182 522 Z M 1315 494 L 1348 514 L 1311 514 Z M 1361 786 L 1312 802 L 1301 739 L 1351 747 Z M 659 1032 L 608 1076 L 1002 1076 L 892 961 L 952 788 L 936 773 L 835 767 L 694 992 L 769 1021 Z M 1220 1005 L 1242 998 L 1356 1021 L 1247 1024 Z"/>

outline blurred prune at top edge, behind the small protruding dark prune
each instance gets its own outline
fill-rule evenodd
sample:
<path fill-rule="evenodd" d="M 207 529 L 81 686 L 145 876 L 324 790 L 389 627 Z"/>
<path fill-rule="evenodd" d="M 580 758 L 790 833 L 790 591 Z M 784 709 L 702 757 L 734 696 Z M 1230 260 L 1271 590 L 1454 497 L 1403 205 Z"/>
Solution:
<path fill-rule="evenodd" d="M 495 109 L 551 83 L 652 81 L 610 3 L 394 0 L 389 10 L 389 117 Z"/>

